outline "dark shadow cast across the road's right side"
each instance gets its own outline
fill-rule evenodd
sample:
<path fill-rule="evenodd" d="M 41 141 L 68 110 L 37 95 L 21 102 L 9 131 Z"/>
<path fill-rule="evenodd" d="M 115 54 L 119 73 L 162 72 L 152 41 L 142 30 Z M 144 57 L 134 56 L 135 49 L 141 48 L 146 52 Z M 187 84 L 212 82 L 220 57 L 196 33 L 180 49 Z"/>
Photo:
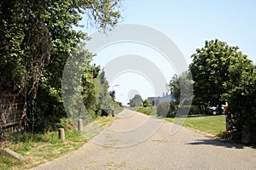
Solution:
<path fill-rule="evenodd" d="M 213 146 L 222 146 L 224 148 L 235 148 L 235 149 L 243 149 L 244 145 L 236 144 L 230 141 L 218 140 L 218 139 L 198 139 L 197 142 L 188 143 L 190 145 L 199 145 L 199 144 L 207 144 Z"/>

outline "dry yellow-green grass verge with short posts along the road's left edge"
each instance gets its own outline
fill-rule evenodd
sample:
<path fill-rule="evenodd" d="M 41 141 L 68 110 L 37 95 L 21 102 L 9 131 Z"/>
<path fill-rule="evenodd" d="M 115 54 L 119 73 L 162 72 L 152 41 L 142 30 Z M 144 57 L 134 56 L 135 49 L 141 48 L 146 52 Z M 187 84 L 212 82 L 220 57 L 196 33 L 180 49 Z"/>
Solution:
<path fill-rule="evenodd" d="M 115 114 L 122 108 L 115 110 Z M 65 142 L 58 139 L 57 132 L 51 133 L 15 133 L 11 135 L 9 142 L 1 144 L 0 148 L 9 148 L 27 158 L 26 162 L 17 161 L 9 156 L 0 156 L 0 170 L 28 169 L 36 167 L 56 157 L 65 155 L 79 149 L 89 139 L 100 133 L 104 127 L 113 122 L 114 117 L 97 117 L 94 122 L 84 126 L 83 133 L 77 130 L 65 131 Z"/>

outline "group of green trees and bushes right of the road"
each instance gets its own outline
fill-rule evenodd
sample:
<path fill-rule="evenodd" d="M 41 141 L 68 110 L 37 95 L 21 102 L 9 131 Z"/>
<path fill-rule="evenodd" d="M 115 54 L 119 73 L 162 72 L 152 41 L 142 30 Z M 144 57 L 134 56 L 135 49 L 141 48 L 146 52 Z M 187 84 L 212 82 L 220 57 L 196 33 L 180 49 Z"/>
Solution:
<path fill-rule="evenodd" d="M 180 93 L 180 87 L 193 84 L 193 105 L 198 105 L 201 111 L 209 105 L 222 105 L 225 101 L 229 104 L 226 114 L 232 126 L 239 131 L 245 125 L 255 127 L 256 69 L 253 61 L 238 47 L 218 39 L 206 41 L 205 47 L 196 49 L 191 58 L 189 71 L 180 77 L 172 77 L 169 83 L 174 97 L 180 99 L 180 94 L 186 94 L 186 90 Z"/>

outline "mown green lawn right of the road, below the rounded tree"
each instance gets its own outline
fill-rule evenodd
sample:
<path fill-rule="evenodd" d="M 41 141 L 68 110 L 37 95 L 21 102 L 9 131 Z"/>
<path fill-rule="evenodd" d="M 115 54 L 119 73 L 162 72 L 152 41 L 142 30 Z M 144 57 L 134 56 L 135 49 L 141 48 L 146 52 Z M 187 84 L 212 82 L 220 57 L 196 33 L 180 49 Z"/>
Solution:
<path fill-rule="evenodd" d="M 165 118 L 168 122 L 183 122 L 183 127 L 189 127 L 195 129 L 201 133 L 208 133 L 214 136 L 218 136 L 219 133 L 225 131 L 225 119 L 224 115 L 218 116 L 189 116 L 185 120 L 184 118 Z"/>

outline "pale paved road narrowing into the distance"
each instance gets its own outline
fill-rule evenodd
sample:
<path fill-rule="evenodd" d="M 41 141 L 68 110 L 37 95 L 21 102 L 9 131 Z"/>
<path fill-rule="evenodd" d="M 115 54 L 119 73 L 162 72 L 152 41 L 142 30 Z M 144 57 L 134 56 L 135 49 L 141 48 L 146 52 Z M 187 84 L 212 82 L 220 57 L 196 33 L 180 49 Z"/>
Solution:
<path fill-rule="evenodd" d="M 256 150 L 214 140 L 185 127 L 170 135 L 172 126 L 125 110 L 109 129 L 79 150 L 33 170 L 256 169 Z"/>

